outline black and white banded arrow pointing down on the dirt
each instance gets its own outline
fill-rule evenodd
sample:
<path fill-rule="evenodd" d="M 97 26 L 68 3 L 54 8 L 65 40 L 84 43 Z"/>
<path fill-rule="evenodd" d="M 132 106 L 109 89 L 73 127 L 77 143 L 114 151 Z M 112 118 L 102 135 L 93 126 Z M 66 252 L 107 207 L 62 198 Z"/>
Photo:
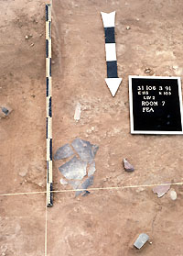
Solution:
<path fill-rule="evenodd" d="M 102 22 L 105 32 L 105 52 L 107 63 L 107 78 L 105 82 L 109 87 L 111 94 L 116 94 L 122 78 L 118 78 L 117 75 L 117 59 L 115 50 L 115 12 L 106 14 L 102 13 Z"/>

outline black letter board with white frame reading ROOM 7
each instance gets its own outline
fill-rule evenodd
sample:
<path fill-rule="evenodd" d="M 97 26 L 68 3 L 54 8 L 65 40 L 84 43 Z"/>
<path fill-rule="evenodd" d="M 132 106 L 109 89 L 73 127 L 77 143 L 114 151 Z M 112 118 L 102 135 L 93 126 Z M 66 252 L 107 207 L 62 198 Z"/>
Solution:
<path fill-rule="evenodd" d="M 129 76 L 131 133 L 183 134 L 179 77 Z"/>

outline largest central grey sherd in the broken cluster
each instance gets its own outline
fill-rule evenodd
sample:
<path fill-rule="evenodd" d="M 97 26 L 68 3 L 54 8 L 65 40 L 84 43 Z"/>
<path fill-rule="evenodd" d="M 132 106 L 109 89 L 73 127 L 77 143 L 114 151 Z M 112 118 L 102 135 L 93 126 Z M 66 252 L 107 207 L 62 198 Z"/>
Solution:
<path fill-rule="evenodd" d="M 86 175 L 87 163 L 73 157 L 63 165 L 59 166 L 59 172 L 68 180 L 81 180 Z"/>

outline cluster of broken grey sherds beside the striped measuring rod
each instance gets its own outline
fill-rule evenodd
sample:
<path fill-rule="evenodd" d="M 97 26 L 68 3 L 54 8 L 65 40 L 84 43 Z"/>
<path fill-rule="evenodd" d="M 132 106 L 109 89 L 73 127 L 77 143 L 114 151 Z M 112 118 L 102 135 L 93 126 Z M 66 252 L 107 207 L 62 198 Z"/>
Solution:
<path fill-rule="evenodd" d="M 60 180 L 60 184 L 70 184 L 73 189 L 78 190 L 76 195 L 88 195 L 86 189 L 93 184 L 93 174 L 96 171 L 94 158 L 98 149 L 97 145 L 79 138 L 60 147 L 54 155 L 56 161 L 72 157 L 59 166 L 59 172 L 65 178 Z M 85 176 L 87 178 L 84 180 Z"/>

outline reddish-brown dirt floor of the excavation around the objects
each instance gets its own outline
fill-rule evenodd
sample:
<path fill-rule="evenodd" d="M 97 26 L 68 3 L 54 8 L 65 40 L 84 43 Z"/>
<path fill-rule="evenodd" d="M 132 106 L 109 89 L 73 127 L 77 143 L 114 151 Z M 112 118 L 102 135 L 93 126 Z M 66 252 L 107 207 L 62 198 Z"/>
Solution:
<path fill-rule="evenodd" d="M 0 0 L 0 194 L 46 190 L 45 4 Z M 178 0 L 54 0 L 52 9 L 53 153 L 75 138 L 99 145 L 92 187 L 183 182 L 180 136 L 130 134 L 128 75 L 180 76 L 183 72 L 182 9 Z M 105 84 L 100 12 L 116 11 L 118 75 L 113 98 Z M 130 27 L 130 29 L 126 29 Z M 28 36 L 28 39 L 26 39 Z M 148 75 L 148 74 L 147 74 Z M 81 119 L 74 120 L 77 104 Z M 135 166 L 126 173 L 123 158 Z M 53 161 L 54 190 L 59 166 Z M 0 196 L 0 255 L 183 255 L 183 186 L 162 198 L 153 187 Z M 135 250 L 136 236 L 151 243 Z M 47 250 L 45 250 L 47 248 Z"/>

